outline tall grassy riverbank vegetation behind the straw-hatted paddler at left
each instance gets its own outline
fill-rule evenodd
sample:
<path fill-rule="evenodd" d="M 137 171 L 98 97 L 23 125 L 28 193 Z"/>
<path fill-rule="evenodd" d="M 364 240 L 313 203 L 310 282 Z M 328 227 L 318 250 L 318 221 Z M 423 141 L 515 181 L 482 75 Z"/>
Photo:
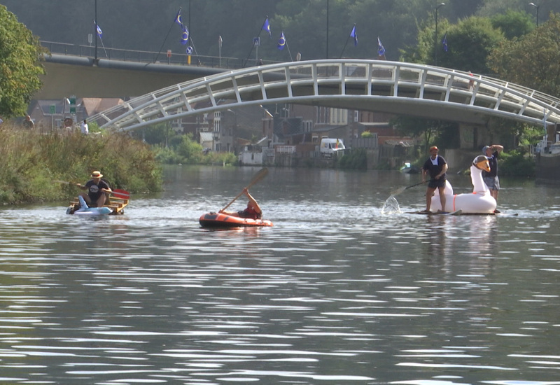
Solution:
<path fill-rule="evenodd" d="M 78 194 L 56 181 L 85 183 L 94 170 L 112 188 L 148 193 L 162 188 L 160 162 L 126 134 L 40 134 L 0 125 L 0 204 L 46 202 Z"/>

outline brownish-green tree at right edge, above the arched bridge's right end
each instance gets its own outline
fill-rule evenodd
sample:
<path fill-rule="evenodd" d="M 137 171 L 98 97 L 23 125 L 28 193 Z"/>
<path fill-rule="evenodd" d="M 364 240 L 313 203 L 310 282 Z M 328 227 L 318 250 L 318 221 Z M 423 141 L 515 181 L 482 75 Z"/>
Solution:
<path fill-rule="evenodd" d="M 560 14 L 519 39 L 503 41 L 489 56 L 499 78 L 546 94 L 560 93 Z"/>

